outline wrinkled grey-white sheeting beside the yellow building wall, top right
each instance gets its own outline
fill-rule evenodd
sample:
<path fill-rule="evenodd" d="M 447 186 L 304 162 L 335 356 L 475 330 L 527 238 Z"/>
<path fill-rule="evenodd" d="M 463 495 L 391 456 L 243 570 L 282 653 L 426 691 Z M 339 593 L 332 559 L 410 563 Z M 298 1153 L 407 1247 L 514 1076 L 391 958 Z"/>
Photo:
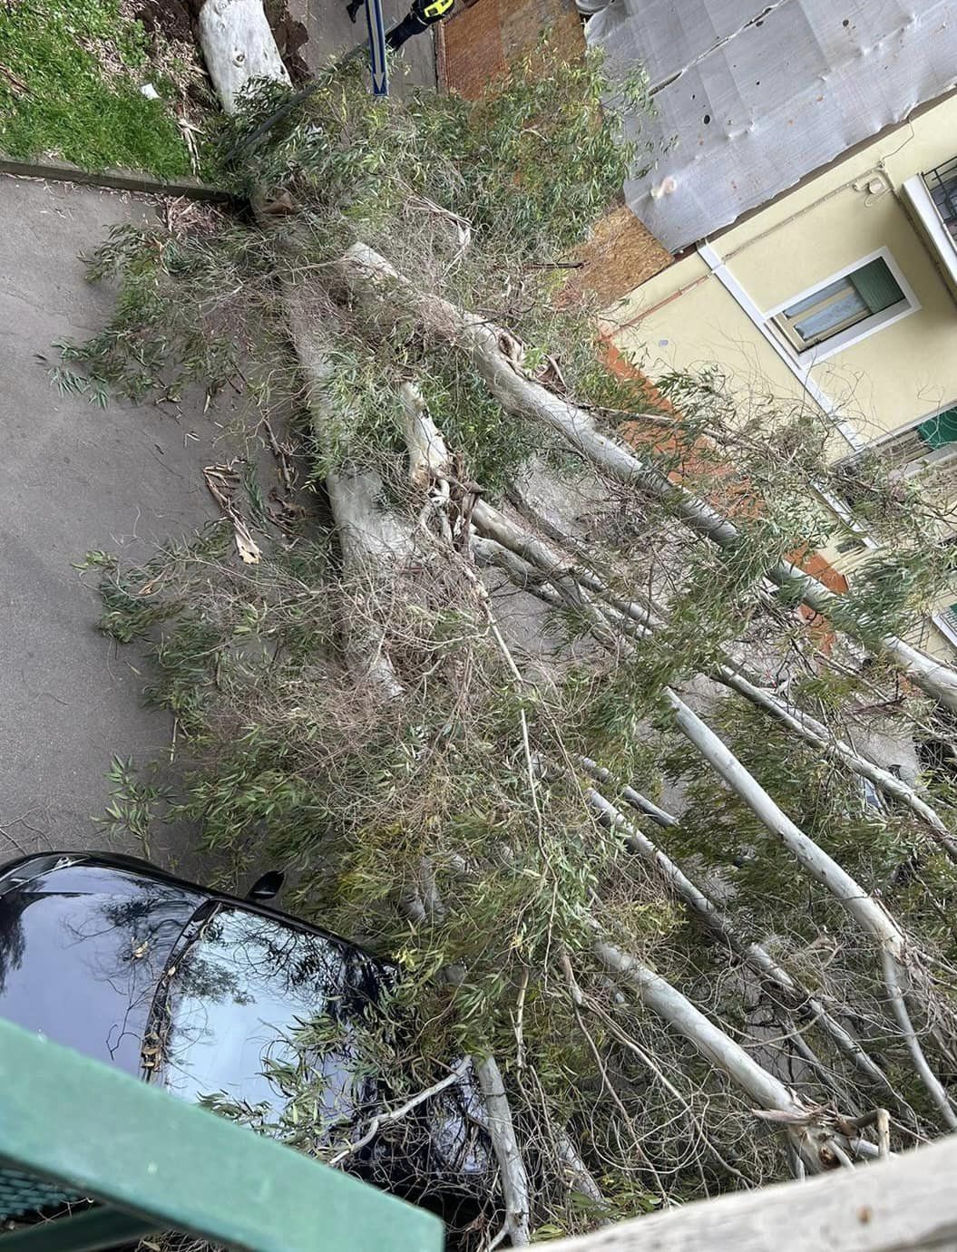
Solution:
<path fill-rule="evenodd" d="M 625 197 L 671 252 L 957 83 L 957 0 L 611 0 L 585 33 L 648 74 L 626 133 L 653 168 Z"/>

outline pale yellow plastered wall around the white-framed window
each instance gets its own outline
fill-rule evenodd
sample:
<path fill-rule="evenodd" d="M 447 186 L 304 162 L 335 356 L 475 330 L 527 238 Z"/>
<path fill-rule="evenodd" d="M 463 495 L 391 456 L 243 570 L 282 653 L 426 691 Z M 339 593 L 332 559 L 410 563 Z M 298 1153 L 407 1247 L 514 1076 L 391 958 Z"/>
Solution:
<path fill-rule="evenodd" d="M 906 179 L 954 155 L 957 95 L 710 242 L 762 314 L 889 249 L 921 308 L 810 369 L 867 442 L 957 403 L 957 304 L 899 198 Z M 800 379 L 696 253 L 609 309 L 606 322 L 619 348 L 653 378 L 716 363 L 745 391 L 803 393 Z M 842 443 L 835 454 L 847 451 Z"/>

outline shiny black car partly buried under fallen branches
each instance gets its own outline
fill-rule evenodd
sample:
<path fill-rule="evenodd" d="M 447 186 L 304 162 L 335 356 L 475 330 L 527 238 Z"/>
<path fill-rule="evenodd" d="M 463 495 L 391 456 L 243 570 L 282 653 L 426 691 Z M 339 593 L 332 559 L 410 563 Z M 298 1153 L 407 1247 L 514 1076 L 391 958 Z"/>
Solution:
<path fill-rule="evenodd" d="M 277 1072 L 301 1059 L 291 1034 L 328 1024 L 336 1042 L 311 1058 L 311 1092 L 337 1142 L 356 1142 L 388 1098 L 361 1039 L 395 972 L 268 908 L 281 884 L 267 874 L 239 900 L 129 856 L 14 861 L 0 869 L 0 1017 L 183 1099 L 256 1108 L 266 1124 L 289 1098 Z M 349 1168 L 460 1224 L 490 1187 L 481 1122 L 466 1072 Z"/>

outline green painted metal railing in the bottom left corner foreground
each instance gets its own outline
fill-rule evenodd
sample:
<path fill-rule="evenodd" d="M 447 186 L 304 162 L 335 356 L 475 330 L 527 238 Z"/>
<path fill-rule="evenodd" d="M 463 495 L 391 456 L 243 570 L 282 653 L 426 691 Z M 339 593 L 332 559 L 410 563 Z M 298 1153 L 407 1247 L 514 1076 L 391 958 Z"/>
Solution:
<path fill-rule="evenodd" d="M 11 1249 L 73 1248 L 68 1228 L 106 1246 L 80 1232 L 96 1213 L 135 1218 L 125 1238 L 175 1229 L 249 1252 L 443 1247 L 432 1213 L 3 1019 L 0 1166 L 122 1211 L 44 1223 L 33 1243 L 0 1234 Z"/>

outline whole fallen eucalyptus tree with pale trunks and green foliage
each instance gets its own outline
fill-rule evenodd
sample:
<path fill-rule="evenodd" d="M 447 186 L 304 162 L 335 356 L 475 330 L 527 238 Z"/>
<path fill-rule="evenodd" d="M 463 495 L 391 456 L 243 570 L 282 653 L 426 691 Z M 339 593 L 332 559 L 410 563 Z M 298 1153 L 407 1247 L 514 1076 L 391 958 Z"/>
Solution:
<path fill-rule="evenodd" d="M 200 18 L 235 146 L 288 103 L 256 8 Z M 247 21 L 272 81 L 243 86 Z M 911 684 L 904 737 L 933 715 L 913 687 L 954 704 L 902 637 L 941 572 L 926 521 L 891 500 L 908 580 L 838 600 L 788 560 L 829 525 L 813 417 L 685 378 L 650 414 L 670 447 L 639 453 L 648 398 L 555 280 L 623 174 L 608 91 L 556 64 L 383 111 L 331 71 L 246 149 L 256 219 L 116 235 L 116 321 L 69 352 L 133 391 L 232 383 L 253 429 L 298 417 L 331 525 L 283 462 L 284 511 L 248 488 L 258 563 L 220 528 L 114 571 L 104 627 L 155 632 L 153 697 L 199 762 L 177 814 L 296 864 L 297 908 L 405 965 L 397 1109 L 475 1058 L 500 1179 L 476 1246 L 868 1159 L 878 1102 L 898 1148 L 954 1124 L 954 810 L 843 729 L 874 681 Z M 509 503 L 532 464 L 572 516 L 547 535 Z"/>

